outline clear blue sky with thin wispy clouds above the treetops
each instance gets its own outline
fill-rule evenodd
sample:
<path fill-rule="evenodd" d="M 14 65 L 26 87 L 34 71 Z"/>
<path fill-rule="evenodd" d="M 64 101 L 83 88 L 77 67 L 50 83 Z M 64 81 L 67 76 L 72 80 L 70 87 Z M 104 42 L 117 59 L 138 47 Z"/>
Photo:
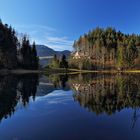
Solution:
<path fill-rule="evenodd" d="M 72 50 L 97 26 L 140 33 L 140 0 L 0 0 L 0 18 L 37 44 Z"/>

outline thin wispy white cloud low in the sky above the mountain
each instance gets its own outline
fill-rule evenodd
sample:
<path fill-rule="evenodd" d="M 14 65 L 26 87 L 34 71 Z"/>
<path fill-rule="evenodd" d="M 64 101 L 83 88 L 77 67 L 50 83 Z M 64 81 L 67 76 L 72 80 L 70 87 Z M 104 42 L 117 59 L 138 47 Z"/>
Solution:
<path fill-rule="evenodd" d="M 32 41 L 36 41 L 37 44 L 47 45 L 55 50 L 72 50 L 73 41 L 68 37 L 57 36 L 59 32 L 52 27 L 44 25 L 17 25 L 19 32 L 28 34 Z"/>

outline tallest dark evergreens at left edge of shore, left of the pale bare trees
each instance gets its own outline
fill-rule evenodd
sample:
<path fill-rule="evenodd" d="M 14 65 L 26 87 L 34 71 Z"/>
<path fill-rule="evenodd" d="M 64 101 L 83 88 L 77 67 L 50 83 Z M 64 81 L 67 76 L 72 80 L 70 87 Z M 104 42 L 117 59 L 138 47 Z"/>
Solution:
<path fill-rule="evenodd" d="M 17 43 L 15 30 L 0 21 L 0 68 L 17 67 Z"/>

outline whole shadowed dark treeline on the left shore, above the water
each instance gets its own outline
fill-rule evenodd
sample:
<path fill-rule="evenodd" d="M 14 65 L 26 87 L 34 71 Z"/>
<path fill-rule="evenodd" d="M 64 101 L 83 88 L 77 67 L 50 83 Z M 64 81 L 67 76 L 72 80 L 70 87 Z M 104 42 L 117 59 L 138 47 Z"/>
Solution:
<path fill-rule="evenodd" d="M 26 35 L 18 39 L 16 31 L 0 21 L 0 69 L 38 69 L 35 42 L 33 45 Z"/>

